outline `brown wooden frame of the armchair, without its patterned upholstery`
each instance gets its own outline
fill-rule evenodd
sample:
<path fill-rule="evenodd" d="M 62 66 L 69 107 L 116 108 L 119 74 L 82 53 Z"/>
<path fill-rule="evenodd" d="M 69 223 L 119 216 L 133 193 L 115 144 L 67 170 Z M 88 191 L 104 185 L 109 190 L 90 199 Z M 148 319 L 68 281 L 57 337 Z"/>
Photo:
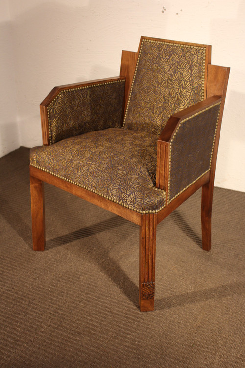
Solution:
<path fill-rule="evenodd" d="M 197 44 L 196 44 L 197 45 Z M 52 184 L 69 193 L 72 193 L 86 201 L 98 205 L 140 226 L 140 264 L 139 264 L 139 305 L 141 311 L 154 310 L 155 289 L 155 254 L 156 254 L 156 227 L 173 210 L 180 206 L 187 198 L 202 187 L 201 200 L 201 224 L 202 224 L 202 247 L 204 250 L 211 249 L 211 213 L 214 189 L 214 177 L 218 143 L 221 130 L 221 121 L 226 96 L 226 89 L 230 68 L 211 64 L 211 46 L 208 48 L 208 67 L 205 74 L 205 100 L 182 110 L 170 117 L 163 129 L 157 148 L 157 181 L 156 187 L 164 189 L 168 193 L 168 170 L 170 142 L 174 132 L 178 129 L 180 121 L 193 116 L 215 102 L 221 101 L 221 109 L 216 131 L 216 139 L 210 170 L 179 194 L 169 204 L 157 213 L 139 213 L 112 202 L 98 194 L 88 191 L 75 184 L 49 174 L 36 167 L 30 166 L 30 189 L 32 208 L 32 234 L 33 249 L 43 251 L 45 249 L 45 210 L 43 182 Z M 121 79 L 126 80 L 124 111 L 129 96 L 130 86 L 133 80 L 138 53 L 123 51 L 121 59 L 120 76 L 110 79 L 99 79 L 84 83 L 75 83 L 55 87 L 45 100 L 40 104 L 43 144 L 49 145 L 49 126 L 47 106 L 61 90 L 73 89 L 81 86 L 89 86 L 104 82 L 113 82 Z M 123 119 L 122 119 L 123 120 Z"/>

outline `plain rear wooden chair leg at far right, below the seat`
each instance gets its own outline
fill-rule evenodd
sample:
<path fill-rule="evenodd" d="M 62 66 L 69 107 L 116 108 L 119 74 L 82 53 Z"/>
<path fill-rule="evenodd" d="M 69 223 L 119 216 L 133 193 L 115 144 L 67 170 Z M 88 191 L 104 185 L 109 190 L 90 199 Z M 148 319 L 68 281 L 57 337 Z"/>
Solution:
<path fill-rule="evenodd" d="M 211 219 L 214 193 L 214 181 L 210 180 L 202 187 L 201 197 L 201 228 L 202 228 L 202 249 L 211 249 Z"/>

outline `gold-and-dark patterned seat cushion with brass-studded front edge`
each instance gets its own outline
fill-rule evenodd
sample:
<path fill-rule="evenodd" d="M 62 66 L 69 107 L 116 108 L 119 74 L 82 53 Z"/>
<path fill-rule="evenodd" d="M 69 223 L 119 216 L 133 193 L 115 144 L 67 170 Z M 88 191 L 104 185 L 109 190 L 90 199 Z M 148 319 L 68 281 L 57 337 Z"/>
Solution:
<path fill-rule="evenodd" d="M 34 147 L 30 164 L 140 213 L 158 212 L 157 139 L 121 128 L 92 131 L 50 146 Z"/>

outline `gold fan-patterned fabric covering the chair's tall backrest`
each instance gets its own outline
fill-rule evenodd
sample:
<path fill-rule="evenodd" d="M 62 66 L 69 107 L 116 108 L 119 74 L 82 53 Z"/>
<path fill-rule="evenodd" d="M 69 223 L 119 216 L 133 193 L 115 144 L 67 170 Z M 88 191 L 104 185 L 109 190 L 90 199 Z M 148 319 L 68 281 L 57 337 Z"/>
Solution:
<path fill-rule="evenodd" d="M 160 135 L 169 117 L 204 99 L 205 47 L 143 39 L 124 127 Z"/>

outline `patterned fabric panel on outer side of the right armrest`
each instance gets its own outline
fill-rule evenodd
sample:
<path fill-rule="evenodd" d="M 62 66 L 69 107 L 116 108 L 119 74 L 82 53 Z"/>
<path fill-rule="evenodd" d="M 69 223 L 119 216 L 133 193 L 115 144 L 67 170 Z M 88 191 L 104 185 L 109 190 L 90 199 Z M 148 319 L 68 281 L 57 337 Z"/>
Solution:
<path fill-rule="evenodd" d="M 210 170 L 220 105 L 180 122 L 170 144 L 168 203 Z"/>

